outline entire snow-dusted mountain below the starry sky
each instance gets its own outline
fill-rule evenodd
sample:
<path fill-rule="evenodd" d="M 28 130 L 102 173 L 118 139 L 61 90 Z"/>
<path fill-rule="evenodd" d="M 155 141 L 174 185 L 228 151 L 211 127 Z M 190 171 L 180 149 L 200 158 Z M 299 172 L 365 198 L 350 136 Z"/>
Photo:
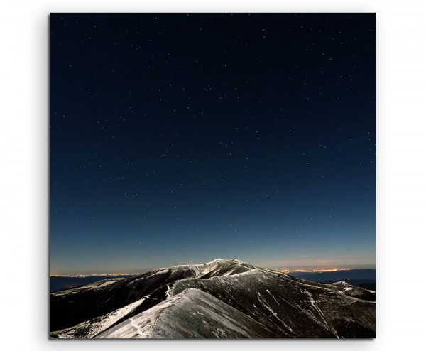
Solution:
<path fill-rule="evenodd" d="M 375 338 L 376 293 L 237 259 L 50 294 L 51 338 Z"/>

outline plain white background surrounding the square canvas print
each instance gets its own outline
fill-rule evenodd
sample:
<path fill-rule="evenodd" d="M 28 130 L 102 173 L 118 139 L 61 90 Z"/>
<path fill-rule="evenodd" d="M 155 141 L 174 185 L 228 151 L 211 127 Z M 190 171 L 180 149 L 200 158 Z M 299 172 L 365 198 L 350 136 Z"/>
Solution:
<path fill-rule="evenodd" d="M 422 1 L 2 1 L 0 345 L 3 350 L 418 349 L 425 333 L 426 5 Z M 48 340 L 48 13 L 377 13 L 377 339 Z"/>

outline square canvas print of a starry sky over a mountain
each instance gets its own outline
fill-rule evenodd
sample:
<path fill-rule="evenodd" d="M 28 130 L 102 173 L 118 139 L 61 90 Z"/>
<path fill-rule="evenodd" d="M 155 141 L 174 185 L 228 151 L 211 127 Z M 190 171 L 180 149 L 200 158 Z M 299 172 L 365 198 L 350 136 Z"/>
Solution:
<path fill-rule="evenodd" d="M 50 338 L 375 338 L 374 13 L 50 14 Z"/>

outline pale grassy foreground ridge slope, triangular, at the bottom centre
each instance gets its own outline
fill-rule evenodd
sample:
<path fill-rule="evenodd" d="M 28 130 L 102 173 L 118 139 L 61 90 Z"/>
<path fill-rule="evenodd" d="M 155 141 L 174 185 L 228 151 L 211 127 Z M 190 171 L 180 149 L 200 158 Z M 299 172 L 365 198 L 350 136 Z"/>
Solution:
<path fill-rule="evenodd" d="M 97 338 L 278 338 L 253 318 L 197 289 L 185 289 Z"/>

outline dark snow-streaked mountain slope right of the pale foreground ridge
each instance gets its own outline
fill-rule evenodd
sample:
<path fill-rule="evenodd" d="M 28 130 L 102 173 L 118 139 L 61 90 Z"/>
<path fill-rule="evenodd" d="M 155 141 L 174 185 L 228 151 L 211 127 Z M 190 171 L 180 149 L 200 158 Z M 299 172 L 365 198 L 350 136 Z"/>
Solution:
<path fill-rule="evenodd" d="M 182 279 L 173 286 L 173 294 L 185 288 L 205 291 L 285 337 L 373 336 L 366 333 L 359 320 L 373 325 L 375 303 L 365 298 L 371 299 L 374 294 L 349 284 L 324 286 L 290 279 L 268 269 L 253 269 L 236 276 L 214 276 L 208 280 Z M 351 320 L 351 333 L 340 333 L 339 325 L 344 320 Z"/>

